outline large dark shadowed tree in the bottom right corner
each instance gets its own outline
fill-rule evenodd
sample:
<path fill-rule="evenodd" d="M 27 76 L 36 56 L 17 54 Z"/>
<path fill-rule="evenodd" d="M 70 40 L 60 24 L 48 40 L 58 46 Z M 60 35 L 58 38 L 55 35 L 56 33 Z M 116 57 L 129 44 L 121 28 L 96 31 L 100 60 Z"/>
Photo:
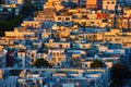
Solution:
<path fill-rule="evenodd" d="M 122 87 L 123 79 L 130 79 L 131 72 L 122 64 L 114 64 L 111 67 L 111 80 L 110 87 Z"/>

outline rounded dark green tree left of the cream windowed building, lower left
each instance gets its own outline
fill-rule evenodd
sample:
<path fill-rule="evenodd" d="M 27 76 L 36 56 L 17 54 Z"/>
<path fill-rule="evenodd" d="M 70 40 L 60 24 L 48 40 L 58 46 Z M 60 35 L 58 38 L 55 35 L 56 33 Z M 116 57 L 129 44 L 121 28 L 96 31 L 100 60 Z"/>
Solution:
<path fill-rule="evenodd" d="M 34 62 L 34 66 L 36 66 L 36 67 L 41 67 L 41 66 L 44 66 L 44 67 L 51 67 L 51 65 L 45 59 L 37 59 Z"/>

